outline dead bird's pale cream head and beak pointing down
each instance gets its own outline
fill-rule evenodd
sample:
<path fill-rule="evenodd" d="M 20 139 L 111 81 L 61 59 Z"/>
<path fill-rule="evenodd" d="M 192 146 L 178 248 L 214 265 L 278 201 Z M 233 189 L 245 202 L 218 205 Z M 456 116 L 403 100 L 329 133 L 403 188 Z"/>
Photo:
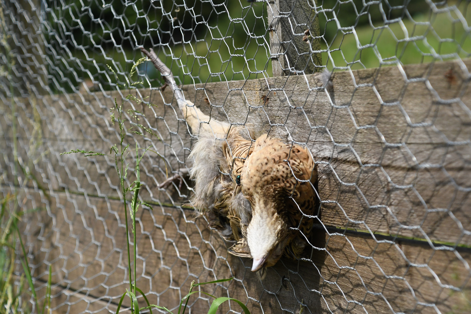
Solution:
<path fill-rule="evenodd" d="M 253 257 L 252 272 L 276 264 L 292 233 L 270 204 L 252 207 L 247 242 Z M 270 208 L 271 207 L 271 208 Z"/>

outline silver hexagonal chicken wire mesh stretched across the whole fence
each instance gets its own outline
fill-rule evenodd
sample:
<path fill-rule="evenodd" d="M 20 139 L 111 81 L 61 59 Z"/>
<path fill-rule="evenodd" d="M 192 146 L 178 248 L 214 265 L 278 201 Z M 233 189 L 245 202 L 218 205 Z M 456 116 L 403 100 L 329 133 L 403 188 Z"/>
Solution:
<path fill-rule="evenodd" d="M 53 312 L 114 312 L 129 287 L 114 159 L 60 155 L 109 153 L 121 136 L 110 122 L 117 99 L 149 131 L 129 130 L 125 142 L 154 151 L 142 159 L 139 194 L 153 209 L 139 210 L 136 226 L 137 282 L 150 303 L 173 310 L 191 281 L 234 276 L 202 290 L 252 313 L 469 313 L 468 5 L 2 1 L 1 190 L 23 213 L 40 303 L 49 266 Z M 252 273 L 188 206 L 191 180 L 162 186 L 191 168 L 195 130 L 150 62 L 130 78 L 139 89 L 118 86 L 139 47 L 153 47 L 211 119 L 309 148 L 322 206 L 300 260 Z M 324 68 L 331 83 L 329 73 L 311 75 Z M 124 100 L 128 93 L 157 107 Z M 17 260 L 17 282 L 21 273 Z M 189 312 L 211 301 L 198 293 Z M 225 306 L 221 313 L 241 312 Z"/>

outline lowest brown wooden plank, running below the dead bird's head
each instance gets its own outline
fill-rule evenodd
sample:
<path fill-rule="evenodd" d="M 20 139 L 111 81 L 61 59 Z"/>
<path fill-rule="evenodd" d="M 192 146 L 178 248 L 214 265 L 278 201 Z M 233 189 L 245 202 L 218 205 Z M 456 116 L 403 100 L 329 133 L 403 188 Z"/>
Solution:
<path fill-rule="evenodd" d="M 32 192 L 22 204 L 44 207 L 26 217 L 33 275 L 46 280 L 51 263 L 53 281 L 64 289 L 117 302 L 128 278 L 121 203 L 65 192 L 49 202 Z M 321 232 L 311 240 L 317 247 L 312 261 L 282 258 L 260 280 L 250 271 L 249 259 L 229 256 L 227 244 L 205 227 L 187 210 L 157 206 L 139 212 L 138 287 L 149 302 L 172 308 L 192 280 L 235 276 L 230 283 L 201 289 L 247 302 L 252 313 L 299 313 L 301 307 L 303 313 L 410 313 L 418 308 L 436 313 L 431 305 L 440 313 L 466 313 L 470 307 L 468 250 Z M 204 295 L 190 301 L 195 313 L 210 305 Z"/>

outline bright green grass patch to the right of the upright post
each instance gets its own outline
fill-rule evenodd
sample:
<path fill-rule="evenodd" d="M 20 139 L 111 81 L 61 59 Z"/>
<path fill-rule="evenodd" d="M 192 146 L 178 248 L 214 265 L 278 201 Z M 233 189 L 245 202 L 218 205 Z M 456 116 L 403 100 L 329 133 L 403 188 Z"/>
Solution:
<path fill-rule="evenodd" d="M 406 17 L 384 28 L 374 29 L 365 25 L 348 32 L 338 31 L 329 46 L 330 53 L 323 52 L 322 60 L 332 70 L 334 66 L 350 66 L 352 69 L 377 67 L 381 60 L 384 65 L 469 58 L 471 35 L 469 28 L 463 27 L 471 21 L 471 9 L 467 5 L 462 2 L 451 13 L 419 13 L 412 19 Z M 322 49 L 327 50 L 327 46 L 323 44 Z"/>

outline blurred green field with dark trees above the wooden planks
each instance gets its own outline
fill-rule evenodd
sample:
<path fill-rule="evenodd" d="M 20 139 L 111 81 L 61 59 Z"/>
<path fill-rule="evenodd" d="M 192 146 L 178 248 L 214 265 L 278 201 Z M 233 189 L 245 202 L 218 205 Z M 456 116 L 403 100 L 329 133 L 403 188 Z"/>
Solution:
<path fill-rule="evenodd" d="M 180 84 L 272 76 L 266 3 L 221 0 L 221 5 L 213 7 L 204 1 L 201 4 L 192 1 L 195 2 L 192 14 L 185 9 L 185 5 L 191 7 L 186 1 L 165 2 L 170 17 L 144 4 L 137 11 L 114 4 L 90 8 L 91 16 L 99 16 L 103 27 L 80 13 L 81 4 L 77 1 L 68 11 L 51 10 L 50 36 L 46 38 L 57 57 L 49 64 L 49 76 L 52 76 L 49 86 L 54 92 L 73 92 L 77 90 L 74 86 L 89 80 L 95 86 L 101 85 L 101 89 L 114 89 L 115 79 L 109 75 L 106 65 L 125 76 L 142 57 L 133 48 L 136 45 L 154 47 Z M 324 0 L 325 10 L 319 13 L 323 65 L 342 71 L 347 67 L 361 69 L 398 62 L 414 64 L 469 58 L 469 3 L 448 1 L 440 8 L 452 9 L 435 14 L 423 1 L 411 1 L 404 11 L 400 6 L 389 10 L 385 5 L 363 7 L 361 0 Z M 355 10 L 359 16 L 352 14 Z M 404 17 L 384 25 L 381 10 L 389 19 Z M 125 15 L 130 26 L 121 25 L 116 12 Z M 205 24 L 198 24 L 203 20 Z M 172 26 L 176 21 L 180 29 Z M 64 32 L 61 29 L 64 26 L 71 31 Z M 144 81 L 144 86 L 162 84 L 149 62 L 140 66 L 139 73 L 141 77 L 135 80 Z"/>

